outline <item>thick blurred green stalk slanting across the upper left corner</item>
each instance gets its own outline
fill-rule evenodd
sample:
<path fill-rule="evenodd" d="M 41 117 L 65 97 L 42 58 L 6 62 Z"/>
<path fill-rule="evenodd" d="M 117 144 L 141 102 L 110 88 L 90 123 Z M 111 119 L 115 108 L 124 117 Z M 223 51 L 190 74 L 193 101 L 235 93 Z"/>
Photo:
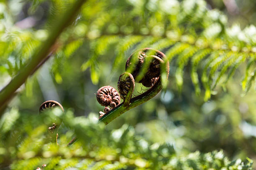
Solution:
<path fill-rule="evenodd" d="M 72 20 L 77 15 L 77 12 L 82 7 L 86 0 L 77 0 L 74 2 L 72 7 L 65 12 L 59 20 L 56 20 L 56 24 L 52 26 L 49 31 L 50 35 L 45 42 L 36 50 L 32 55 L 31 59 L 28 61 L 27 65 L 23 67 L 15 77 L 0 91 L 0 106 L 6 105 L 10 100 L 13 93 L 26 81 L 31 72 L 36 70 L 37 66 L 42 62 L 47 55 L 50 53 L 50 48 L 54 45 L 56 39 L 59 37 L 61 32 L 68 25 L 72 23 Z M 3 112 L 0 112 L 0 116 Z"/>

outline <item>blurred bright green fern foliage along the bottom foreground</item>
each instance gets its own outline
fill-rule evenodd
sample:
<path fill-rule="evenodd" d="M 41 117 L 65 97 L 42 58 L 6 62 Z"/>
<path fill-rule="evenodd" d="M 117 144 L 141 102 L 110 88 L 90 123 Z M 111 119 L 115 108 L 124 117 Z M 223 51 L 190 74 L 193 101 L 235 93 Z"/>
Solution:
<path fill-rule="evenodd" d="M 46 127 L 62 119 L 59 145 L 46 143 Z M 42 121 L 43 120 L 43 121 Z M 40 122 L 40 123 L 38 123 Z M 152 143 L 127 125 L 107 130 L 90 114 L 74 117 L 71 110 L 63 113 L 56 108 L 40 116 L 20 115 L 17 109 L 6 112 L 1 121 L 0 161 L 2 168 L 33 170 L 46 164 L 45 170 L 63 169 L 227 169 L 249 170 L 252 160 L 230 162 L 223 151 L 177 156 L 171 143 Z M 67 143 L 76 134 L 79 140 Z"/>

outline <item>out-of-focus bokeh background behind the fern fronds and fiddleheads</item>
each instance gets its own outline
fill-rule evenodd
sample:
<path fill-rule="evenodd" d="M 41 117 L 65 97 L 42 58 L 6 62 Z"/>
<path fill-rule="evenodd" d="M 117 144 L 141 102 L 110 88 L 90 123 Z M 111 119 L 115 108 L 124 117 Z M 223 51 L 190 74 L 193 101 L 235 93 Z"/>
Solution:
<path fill-rule="evenodd" d="M 238 24 L 241 28 L 256 25 L 255 0 L 206 0 L 206 2 L 209 10 L 218 9 L 225 13 L 228 25 Z M 119 5 L 123 6 L 122 10 L 129 10 L 133 7 L 133 3 L 135 3 L 133 0 L 124 0 Z M 150 11 L 156 1 L 148 0 L 147 3 L 145 9 Z M 22 39 L 20 46 L 26 42 L 26 34 L 29 38 L 44 40 L 47 35 L 45 25 L 51 27 L 50 22 L 46 22 L 51 10 L 49 6 L 50 2 L 41 0 L 3 1 L 0 3 L 0 10 L 8 9 L 3 11 L 8 13 L 10 17 L 8 22 L 14 23 L 15 28 L 5 28 L 6 30 L 3 31 L 3 25 L 0 24 L 0 29 L 2 32 L 10 30 L 15 32 L 13 29 L 23 31 L 23 37 L 15 37 L 13 33 L 13 38 Z M 99 10 L 96 7 L 90 15 L 94 15 Z M 0 14 L 0 18 L 1 15 L 5 15 L 4 13 Z M 89 12 L 84 12 L 84 15 L 87 14 L 89 15 Z M 72 108 L 76 116 L 87 116 L 91 112 L 98 113 L 103 110 L 103 106 L 100 106 L 96 100 L 97 89 L 104 85 L 117 88 L 118 77 L 125 72 L 126 58 L 136 48 L 126 50 L 120 65 L 113 69 L 116 46 L 111 45 L 108 50 L 99 52 L 99 57 L 95 58 L 97 67 L 89 68 L 86 61 L 93 54 L 90 52 L 92 44 L 87 42 L 94 36 L 97 37 L 97 30 L 88 30 L 87 23 L 83 23 L 84 21 L 79 18 L 74 22 L 78 24 L 64 32 L 60 39 L 74 38 L 77 41 L 57 52 L 30 77 L 26 84 L 18 89 L 18 95 L 10 102 L 7 110 L 16 107 L 26 114 L 38 114 L 39 106 L 46 100 L 56 100 L 65 109 Z M 118 32 L 116 29 L 130 31 L 129 28 L 117 28 L 113 23 L 110 23 L 108 29 L 113 32 Z M 33 35 L 30 35 L 29 30 L 34 31 Z M 70 34 L 72 36 L 69 36 Z M 80 41 L 79 38 L 84 35 L 87 35 L 87 39 Z M 79 47 L 76 48 L 77 44 Z M 5 50 L 11 49 L 5 48 Z M 30 52 L 29 48 L 27 50 L 25 53 Z M 15 74 L 15 67 L 13 72 L 7 72 L 5 67 L 15 65 L 16 54 L 20 54 L 20 51 L 13 51 L 8 57 L 3 56 L 0 59 L 2 62 L 0 88 L 10 81 L 10 74 Z M 5 63 L 7 58 L 9 62 Z M 245 65 L 242 65 L 227 85 L 217 87 L 215 95 L 205 102 L 203 94 L 195 95 L 189 76 L 189 66 L 185 68 L 184 85 L 179 92 L 174 80 L 175 64 L 171 63 L 166 91 L 161 91 L 152 100 L 125 112 L 113 120 L 107 128 L 117 129 L 125 123 L 129 124 L 135 128 L 137 134 L 143 135 L 147 140 L 172 143 L 178 154 L 196 150 L 206 153 L 222 149 L 231 159 L 249 157 L 256 161 L 256 92 L 251 88 L 246 95 L 243 95 L 241 77 L 244 75 L 244 68 Z M 139 84 L 136 86 L 136 93 L 139 94 L 143 87 Z"/>

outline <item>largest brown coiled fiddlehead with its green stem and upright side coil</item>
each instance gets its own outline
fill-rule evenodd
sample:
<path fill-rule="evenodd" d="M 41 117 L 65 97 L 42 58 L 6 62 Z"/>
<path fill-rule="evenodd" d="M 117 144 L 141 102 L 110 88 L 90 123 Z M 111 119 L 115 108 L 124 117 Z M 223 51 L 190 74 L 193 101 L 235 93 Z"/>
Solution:
<path fill-rule="evenodd" d="M 165 59 L 166 56 L 163 52 L 151 48 L 134 52 L 126 62 L 126 72 L 120 75 L 118 80 L 118 90 L 124 102 L 102 115 L 99 120 L 108 124 L 124 112 L 154 97 L 162 89 L 161 73 L 164 73 L 166 78 L 169 75 L 169 61 L 165 61 Z M 131 98 L 135 81 L 151 88 L 141 95 Z"/>

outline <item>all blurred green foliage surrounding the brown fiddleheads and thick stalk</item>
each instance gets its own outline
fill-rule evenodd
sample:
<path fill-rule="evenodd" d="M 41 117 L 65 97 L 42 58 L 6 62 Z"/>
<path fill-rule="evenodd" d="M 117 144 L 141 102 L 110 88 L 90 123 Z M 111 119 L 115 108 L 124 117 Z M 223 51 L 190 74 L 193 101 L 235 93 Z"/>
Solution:
<path fill-rule="evenodd" d="M 1 88 L 72 3 L 0 3 Z M 0 168 L 248 169 L 256 160 L 255 8 L 254 0 L 87 0 L 58 32 L 49 60 L 1 110 Z M 166 88 L 96 124 L 97 89 L 117 87 L 126 59 L 142 47 L 170 60 Z M 136 94 L 145 88 L 136 86 Z M 59 101 L 66 115 L 39 115 L 45 100 Z M 44 140 L 51 115 L 63 118 L 58 147 Z M 74 133 L 80 140 L 67 149 Z"/>

